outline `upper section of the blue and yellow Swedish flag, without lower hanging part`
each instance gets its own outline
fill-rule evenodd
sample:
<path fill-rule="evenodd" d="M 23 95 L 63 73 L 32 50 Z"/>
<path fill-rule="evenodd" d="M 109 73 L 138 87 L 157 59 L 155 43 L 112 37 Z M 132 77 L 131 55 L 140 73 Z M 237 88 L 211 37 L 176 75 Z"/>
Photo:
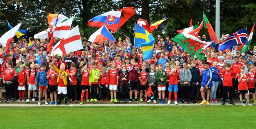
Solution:
<path fill-rule="evenodd" d="M 135 23 L 134 27 L 134 46 L 142 47 L 143 43 L 152 42 L 154 44 L 155 38 L 143 27 Z"/>

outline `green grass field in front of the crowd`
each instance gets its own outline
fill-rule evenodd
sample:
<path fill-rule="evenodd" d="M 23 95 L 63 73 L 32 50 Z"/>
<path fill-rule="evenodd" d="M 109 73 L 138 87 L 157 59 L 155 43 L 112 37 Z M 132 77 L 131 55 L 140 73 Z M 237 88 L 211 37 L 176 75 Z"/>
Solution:
<path fill-rule="evenodd" d="M 1 107 L 0 128 L 254 128 L 255 114 L 240 105 Z"/>

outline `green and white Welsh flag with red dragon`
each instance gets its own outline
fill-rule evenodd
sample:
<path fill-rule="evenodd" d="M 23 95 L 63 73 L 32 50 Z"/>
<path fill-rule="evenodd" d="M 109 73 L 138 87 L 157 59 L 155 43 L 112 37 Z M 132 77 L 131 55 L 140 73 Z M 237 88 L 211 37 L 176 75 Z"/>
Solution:
<path fill-rule="evenodd" d="M 194 57 L 200 51 L 203 51 L 212 42 L 201 41 L 197 37 L 188 33 L 180 33 L 176 35 L 173 40 L 181 45 L 190 56 Z"/>

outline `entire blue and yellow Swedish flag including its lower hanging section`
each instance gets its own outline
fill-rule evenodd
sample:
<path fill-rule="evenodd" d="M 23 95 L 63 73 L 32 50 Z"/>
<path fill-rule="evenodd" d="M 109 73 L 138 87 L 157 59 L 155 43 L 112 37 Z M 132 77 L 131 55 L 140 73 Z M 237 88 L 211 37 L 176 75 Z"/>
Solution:
<path fill-rule="evenodd" d="M 135 23 L 135 47 L 142 47 L 143 60 L 148 60 L 153 56 L 155 38 L 143 27 Z"/>

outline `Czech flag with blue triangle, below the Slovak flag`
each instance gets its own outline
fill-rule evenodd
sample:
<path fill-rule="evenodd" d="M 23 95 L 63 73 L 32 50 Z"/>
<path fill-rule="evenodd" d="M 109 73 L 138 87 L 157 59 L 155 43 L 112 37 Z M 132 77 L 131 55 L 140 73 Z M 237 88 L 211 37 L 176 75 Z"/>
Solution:
<path fill-rule="evenodd" d="M 102 41 L 108 40 L 111 43 L 115 43 L 116 39 L 113 35 L 108 31 L 107 27 L 103 25 L 98 31 L 94 32 L 91 37 L 89 37 L 88 41 L 93 43 L 102 44 Z"/>

